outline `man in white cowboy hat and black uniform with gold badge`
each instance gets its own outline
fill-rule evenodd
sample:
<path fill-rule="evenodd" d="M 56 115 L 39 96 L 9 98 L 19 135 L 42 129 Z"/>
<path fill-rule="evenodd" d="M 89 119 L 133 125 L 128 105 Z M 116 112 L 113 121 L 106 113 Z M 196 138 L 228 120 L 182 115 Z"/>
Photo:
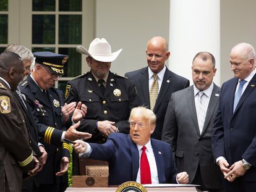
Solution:
<path fill-rule="evenodd" d="M 67 83 L 65 98 L 67 103 L 82 101 L 87 106 L 77 130 L 92 133 L 91 143 L 105 143 L 114 132 L 129 133 L 130 110 L 139 106 L 134 83 L 109 71 L 121 51 L 112 52 L 104 38 L 93 40 L 88 51 L 77 46 L 77 52 L 88 56 L 91 70 Z M 73 155 L 73 175 L 79 175 L 78 157 Z"/>

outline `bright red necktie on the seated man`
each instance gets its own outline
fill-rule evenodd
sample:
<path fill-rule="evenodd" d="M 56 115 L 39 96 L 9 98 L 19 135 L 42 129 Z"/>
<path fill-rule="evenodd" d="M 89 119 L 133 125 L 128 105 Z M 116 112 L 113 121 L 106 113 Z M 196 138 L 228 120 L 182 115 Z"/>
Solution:
<path fill-rule="evenodd" d="M 140 183 L 151 184 L 150 165 L 146 154 L 146 147 L 142 147 L 142 155 L 140 156 Z"/>

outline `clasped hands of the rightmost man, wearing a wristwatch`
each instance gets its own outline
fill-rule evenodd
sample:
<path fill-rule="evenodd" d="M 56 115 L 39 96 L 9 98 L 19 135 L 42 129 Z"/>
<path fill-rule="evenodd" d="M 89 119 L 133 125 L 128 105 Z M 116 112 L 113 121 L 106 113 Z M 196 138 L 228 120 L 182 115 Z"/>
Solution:
<path fill-rule="evenodd" d="M 218 164 L 220 165 L 220 169 L 224 175 L 224 178 L 226 178 L 226 180 L 229 182 L 234 182 L 237 177 L 241 177 L 246 172 L 242 161 L 237 161 L 231 165 L 231 167 L 229 167 L 228 161 L 226 161 L 226 159 L 220 159 Z"/>

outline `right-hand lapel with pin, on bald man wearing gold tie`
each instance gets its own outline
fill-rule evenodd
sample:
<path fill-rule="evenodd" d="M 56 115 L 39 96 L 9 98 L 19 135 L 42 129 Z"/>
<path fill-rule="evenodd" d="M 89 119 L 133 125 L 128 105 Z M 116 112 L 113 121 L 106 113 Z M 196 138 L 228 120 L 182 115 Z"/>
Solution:
<path fill-rule="evenodd" d="M 156 113 L 158 107 L 160 107 L 160 104 L 166 94 L 166 91 L 169 90 L 169 86 L 171 86 L 172 83 L 172 79 L 171 79 L 171 73 L 169 72 L 169 70 L 166 67 L 166 70 L 164 72 L 164 77 L 163 77 L 163 81 L 162 81 L 162 85 L 158 94 L 158 97 L 156 99 L 156 104 L 155 104 L 155 108 L 154 108 L 154 112 Z"/>

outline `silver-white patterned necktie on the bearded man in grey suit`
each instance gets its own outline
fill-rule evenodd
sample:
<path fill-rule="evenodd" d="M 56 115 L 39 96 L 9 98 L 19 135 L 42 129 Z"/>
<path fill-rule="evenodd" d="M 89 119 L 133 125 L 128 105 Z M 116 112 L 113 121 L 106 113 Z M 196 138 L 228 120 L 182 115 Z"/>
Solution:
<path fill-rule="evenodd" d="M 203 91 L 199 91 L 197 93 L 198 95 L 198 98 L 197 98 L 197 122 L 198 122 L 198 127 L 199 127 L 199 131 L 200 131 L 200 134 L 202 133 L 203 131 L 203 125 L 205 123 L 205 107 L 203 105 Z"/>

